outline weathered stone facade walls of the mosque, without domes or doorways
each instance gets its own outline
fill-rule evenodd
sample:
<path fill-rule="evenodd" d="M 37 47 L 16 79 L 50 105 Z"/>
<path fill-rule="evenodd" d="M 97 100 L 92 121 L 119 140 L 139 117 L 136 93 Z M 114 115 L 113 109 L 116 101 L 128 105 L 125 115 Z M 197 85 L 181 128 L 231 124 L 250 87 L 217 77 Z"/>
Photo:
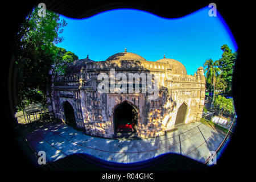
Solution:
<path fill-rule="evenodd" d="M 99 93 L 97 76 L 109 73 L 151 73 L 159 75 L 159 93 L 156 100 L 148 100 L 148 93 Z M 172 74 L 166 63 L 152 61 L 98 61 L 86 63 L 80 73 L 52 76 L 48 107 L 55 118 L 65 123 L 64 102 L 74 111 L 77 127 L 90 135 L 111 138 L 114 135 L 114 109 L 123 101 L 138 110 L 137 133 L 139 137 L 156 137 L 175 127 L 177 110 L 187 106 L 184 123 L 199 121 L 203 113 L 205 79 L 203 68 L 195 75 Z M 117 81 L 115 82 L 117 83 Z"/>

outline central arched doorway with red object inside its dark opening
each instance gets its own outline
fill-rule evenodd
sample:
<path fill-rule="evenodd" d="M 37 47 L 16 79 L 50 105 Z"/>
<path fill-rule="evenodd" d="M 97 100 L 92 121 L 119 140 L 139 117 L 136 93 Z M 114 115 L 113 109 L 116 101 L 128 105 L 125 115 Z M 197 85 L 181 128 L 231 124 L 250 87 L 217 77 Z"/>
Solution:
<path fill-rule="evenodd" d="M 138 122 L 137 109 L 125 101 L 114 110 L 114 131 L 115 133 L 135 132 Z"/>

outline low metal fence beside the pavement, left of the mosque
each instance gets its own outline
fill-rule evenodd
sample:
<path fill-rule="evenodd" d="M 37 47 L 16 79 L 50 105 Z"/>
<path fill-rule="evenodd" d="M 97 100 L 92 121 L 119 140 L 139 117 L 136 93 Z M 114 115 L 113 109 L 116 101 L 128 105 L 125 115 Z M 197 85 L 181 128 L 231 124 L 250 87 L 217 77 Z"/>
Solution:
<path fill-rule="evenodd" d="M 32 112 L 21 111 L 15 114 L 16 121 L 18 124 L 27 124 L 42 119 L 49 119 L 48 109 L 42 109 Z"/>

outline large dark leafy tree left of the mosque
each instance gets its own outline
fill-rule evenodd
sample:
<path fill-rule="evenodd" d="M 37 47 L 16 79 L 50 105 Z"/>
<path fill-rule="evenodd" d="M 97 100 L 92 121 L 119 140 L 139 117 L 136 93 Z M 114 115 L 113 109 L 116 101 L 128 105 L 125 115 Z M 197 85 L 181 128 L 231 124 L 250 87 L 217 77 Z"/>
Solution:
<path fill-rule="evenodd" d="M 35 7 L 20 24 L 13 47 L 18 69 L 16 105 L 20 109 L 31 102 L 46 103 L 48 72 L 58 52 L 55 44 L 63 41 L 59 34 L 67 25 L 59 14 L 46 10 L 46 16 L 40 17 L 38 10 Z"/>

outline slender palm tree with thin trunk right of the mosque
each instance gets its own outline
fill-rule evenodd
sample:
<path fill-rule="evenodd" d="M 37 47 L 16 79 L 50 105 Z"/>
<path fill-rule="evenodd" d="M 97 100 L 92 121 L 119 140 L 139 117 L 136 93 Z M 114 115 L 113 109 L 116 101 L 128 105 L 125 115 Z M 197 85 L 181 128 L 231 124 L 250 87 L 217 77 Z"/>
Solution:
<path fill-rule="evenodd" d="M 212 100 L 212 104 L 210 105 L 210 109 L 212 110 L 212 106 L 213 106 L 213 102 L 214 102 L 214 90 L 215 90 L 215 84 L 218 80 L 218 78 L 220 77 L 220 72 L 221 69 L 218 68 L 218 60 L 213 61 L 212 59 L 208 59 L 204 62 L 204 68 L 207 67 L 206 69 L 204 69 L 204 72 L 206 73 L 206 78 L 205 80 L 213 86 L 213 100 Z"/>

